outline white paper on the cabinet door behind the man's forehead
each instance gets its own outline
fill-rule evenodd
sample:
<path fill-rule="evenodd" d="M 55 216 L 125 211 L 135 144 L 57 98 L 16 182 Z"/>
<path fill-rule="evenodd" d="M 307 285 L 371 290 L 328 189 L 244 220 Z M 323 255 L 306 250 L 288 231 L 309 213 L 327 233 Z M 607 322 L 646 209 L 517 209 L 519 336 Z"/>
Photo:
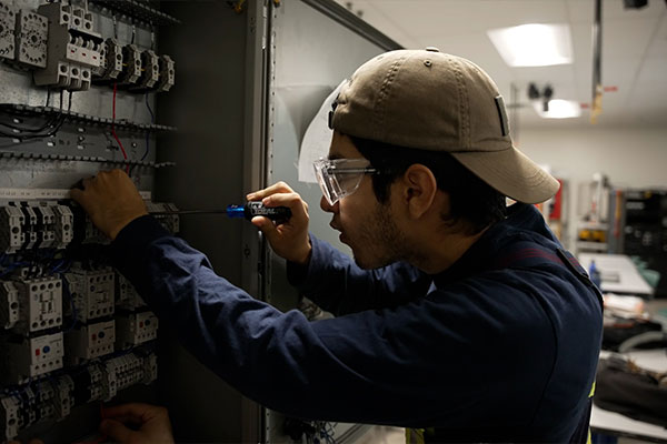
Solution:
<path fill-rule="evenodd" d="M 336 100 L 342 85 L 346 83 L 347 80 L 340 82 L 334 92 L 325 99 L 319 111 L 315 114 L 315 118 L 308 125 L 306 134 L 303 134 L 303 140 L 301 141 L 301 148 L 299 150 L 300 182 L 317 183 L 312 162 L 319 158 L 326 158 L 329 153 L 331 134 L 334 133 L 334 131 L 329 129 L 329 111 L 331 111 L 331 103 L 334 103 L 334 100 Z"/>

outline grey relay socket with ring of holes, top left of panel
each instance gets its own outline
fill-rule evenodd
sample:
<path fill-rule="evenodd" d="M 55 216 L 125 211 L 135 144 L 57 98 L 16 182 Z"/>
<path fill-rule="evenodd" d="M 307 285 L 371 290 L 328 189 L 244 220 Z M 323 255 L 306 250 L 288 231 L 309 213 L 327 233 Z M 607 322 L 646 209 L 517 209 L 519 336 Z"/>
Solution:
<path fill-rule="evenodd" d="M 21 9 L 17 17 L 16 61 L 28 68 L 47 68 L 49 20 Z"/>

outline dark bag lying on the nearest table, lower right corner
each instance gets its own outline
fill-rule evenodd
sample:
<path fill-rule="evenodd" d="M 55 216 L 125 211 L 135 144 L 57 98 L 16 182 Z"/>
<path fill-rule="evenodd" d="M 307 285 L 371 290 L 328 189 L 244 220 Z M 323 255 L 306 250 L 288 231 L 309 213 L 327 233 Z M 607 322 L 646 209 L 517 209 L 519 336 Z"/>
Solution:
<path fill-rule="evenodd" d="M 600 360 L 595 405 L 667 427 L 667 374 L 638 367 L 620 356 Z"/>

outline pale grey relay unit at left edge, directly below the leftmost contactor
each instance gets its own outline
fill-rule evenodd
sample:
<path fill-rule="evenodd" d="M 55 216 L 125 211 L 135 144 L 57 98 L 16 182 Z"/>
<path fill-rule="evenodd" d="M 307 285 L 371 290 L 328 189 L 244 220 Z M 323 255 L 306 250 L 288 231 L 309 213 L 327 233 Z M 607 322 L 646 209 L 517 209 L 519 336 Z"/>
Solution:
<path fill-rule="evenodd" d="M 6 382 L 21 384 L 62 369 L 62 332 L 7 342 Z"/>

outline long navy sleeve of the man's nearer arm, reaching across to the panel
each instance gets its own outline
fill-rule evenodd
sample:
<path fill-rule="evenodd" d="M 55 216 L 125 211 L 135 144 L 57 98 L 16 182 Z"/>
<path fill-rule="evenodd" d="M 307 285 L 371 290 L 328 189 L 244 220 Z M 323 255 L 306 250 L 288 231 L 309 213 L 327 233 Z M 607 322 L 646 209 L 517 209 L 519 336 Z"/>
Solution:
<path fill-rule="evenodd" d="M 499 383 L 490 362 L 508 360 L 520 369 L 527 357 L 538 367 L 552 361 L 536 333 L 524 341 L 535 353 L 499 354 L 506 347 L 496 342 L 507 337 L 500 334 L 499 314 L 478 316 L 471 310 L 484 294 L 481 281 L 476 289 L 459 289 L 465 297 L 455 297 L 456 289 L 434 291 L 395 309 L 311 323 L 300 312 L 281 313 L 216 275 L 202 253 L 150 216 L 121 231 L 112 255 L 198 360 L 246 396 L 298 417 L 402 426 L 475 424 L 488 414 L 478 405 L 487 382 Z M 536 323 L 545 321 L 539 306 L 524 310 Z M 520 377 L 519 372 L 508 374 Z M 541 393 L 541 386 L 524 385 L 530 396 Z"/>

